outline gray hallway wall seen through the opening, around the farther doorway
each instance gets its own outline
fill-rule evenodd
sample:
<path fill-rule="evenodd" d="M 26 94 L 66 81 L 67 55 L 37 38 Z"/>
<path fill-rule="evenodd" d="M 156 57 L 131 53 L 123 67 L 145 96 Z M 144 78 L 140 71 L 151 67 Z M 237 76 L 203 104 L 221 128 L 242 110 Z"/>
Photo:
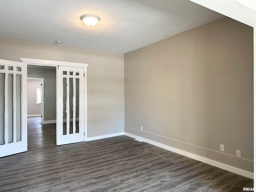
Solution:
<path fill-rule="evenodd" d="M 28 77 L 44 78 L 44 121 L 56 120 L 56 69 L 28 67 Z"/>

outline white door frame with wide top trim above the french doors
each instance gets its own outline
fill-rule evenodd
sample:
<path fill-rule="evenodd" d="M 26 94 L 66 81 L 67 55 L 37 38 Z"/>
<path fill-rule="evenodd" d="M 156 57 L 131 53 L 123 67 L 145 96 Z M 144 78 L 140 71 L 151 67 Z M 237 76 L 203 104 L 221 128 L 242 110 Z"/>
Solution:
<path fill-rule="evenodd" d="M 22 62 L 29 65 L 55 66 L 55 67 L 66 66 L 66 67 L 84 68 L 84 76 L 85 76 L 84 78 L 84 141 L 87 141 L 87 66 L 88 64 L 54 61 L 54 60 L 43 60 L 43 59 L 32 59 L 32 58 L 20 58 L 20 59 L 22 60 Z M 57 70 L 56 70 L 56 78 L 57 78 Z"/>

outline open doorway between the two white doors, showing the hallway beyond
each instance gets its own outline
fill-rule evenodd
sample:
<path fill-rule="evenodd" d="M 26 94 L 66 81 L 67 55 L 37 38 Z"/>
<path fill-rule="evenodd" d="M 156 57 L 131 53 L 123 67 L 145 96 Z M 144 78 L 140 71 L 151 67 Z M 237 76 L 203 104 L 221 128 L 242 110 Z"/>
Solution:
<path fill-rule="evenodd" d="M 27 65 L 27 76 L 29 150 L 37 144 L 38 147 L 56 144 L 56 67 Z M 37 112 L 32 113 L 31 106 L 41 111 L 37 108 Z M 50 140 L 45 139 L 48 134 L 52 134 Z M 38 141 L 36 144 L 35 138 Z"/>

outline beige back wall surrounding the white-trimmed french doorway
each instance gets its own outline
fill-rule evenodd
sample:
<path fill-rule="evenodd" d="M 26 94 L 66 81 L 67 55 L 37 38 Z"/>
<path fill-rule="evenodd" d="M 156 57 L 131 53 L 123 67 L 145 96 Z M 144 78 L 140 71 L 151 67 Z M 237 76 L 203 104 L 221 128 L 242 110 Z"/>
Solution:
<path fill-rule="evenodd" d="M 89 64 L 88 137 L 124 131 L 123 54 L 0 38 L 1 59 L 21 61 L 21 57 Z"/>

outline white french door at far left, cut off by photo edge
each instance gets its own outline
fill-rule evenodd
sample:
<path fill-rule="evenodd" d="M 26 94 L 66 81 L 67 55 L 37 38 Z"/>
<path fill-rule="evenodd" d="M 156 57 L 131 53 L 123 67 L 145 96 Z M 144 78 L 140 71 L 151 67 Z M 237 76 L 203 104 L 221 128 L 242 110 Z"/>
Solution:
<path fill-rule="evenodd" d="M 0 59 L 0 157 L 27 151 L 27 66 Z"/>

